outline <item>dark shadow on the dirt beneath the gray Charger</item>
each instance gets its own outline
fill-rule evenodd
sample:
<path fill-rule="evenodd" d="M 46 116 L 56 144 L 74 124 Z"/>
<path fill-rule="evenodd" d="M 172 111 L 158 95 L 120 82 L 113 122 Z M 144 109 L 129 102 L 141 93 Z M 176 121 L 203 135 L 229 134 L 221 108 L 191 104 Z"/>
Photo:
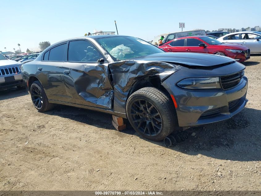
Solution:
<path fill-rule="evenodd" d="M 58 115 L 98 128 L 113 129 L 112 115 L 75 107 L 59 105 L 54 110 L 46 112 Z M 261 110 L 245 108 L 231 119 L 187 129 L 189 138 L 169 149 L 188 155 L 204 155 L 215 159 L 234 161 L 261 160 Z M 125 134 L 137 135 L 146 142 L 165 147 L 163 142 L 149 141 L 138 135 L 125 121 L 127 128 L 116 132 L 119 137 Z M 196 133 L 195 136 L 191 136 Z"/>

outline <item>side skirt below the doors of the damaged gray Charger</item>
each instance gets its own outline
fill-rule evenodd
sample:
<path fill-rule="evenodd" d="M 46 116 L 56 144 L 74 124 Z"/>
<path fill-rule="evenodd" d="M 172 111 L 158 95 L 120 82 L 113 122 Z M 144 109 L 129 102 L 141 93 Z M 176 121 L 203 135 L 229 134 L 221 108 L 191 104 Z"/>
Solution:
<path fill-rule="evenodd" d="M 49 103 L 55 103 L 55 104 L 61 104 L 61 105 L 67 105 L 67 106 L 73 106 L 73 107 L 79 107 L 79 108 L 84 108 L 84 109 L 93 110 L 93 111 L 99 111 L 99 112 L 112 114 L 112 115 L 116 115 L 116 116 L 119 116 L 119 117 L 127 119 L 126 113 L 121 113 L 121 112 L 116 112 L 116 111 L 112 111 L 112 110 L 107 110 L 107 109 L 104 109 L 104 108 L 85 106 L 85 105 L 81 105 L 81 104 L 57 101 L 57 100 L 52 100 L 52 99 L 48 99 L 48 102 Z"/>

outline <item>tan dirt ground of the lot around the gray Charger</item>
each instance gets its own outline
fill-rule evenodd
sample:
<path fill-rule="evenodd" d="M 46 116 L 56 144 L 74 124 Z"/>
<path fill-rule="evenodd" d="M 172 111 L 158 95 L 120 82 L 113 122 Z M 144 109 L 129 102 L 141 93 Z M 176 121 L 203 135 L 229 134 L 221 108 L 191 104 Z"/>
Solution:
<path fill-rule="evenodd" d="M 246 108 L 171 148 L 111 115 L 40 113 L 26 91 L 0 92 L 0 190 L 261 190 L 261 55 L 243 64 Z"/>

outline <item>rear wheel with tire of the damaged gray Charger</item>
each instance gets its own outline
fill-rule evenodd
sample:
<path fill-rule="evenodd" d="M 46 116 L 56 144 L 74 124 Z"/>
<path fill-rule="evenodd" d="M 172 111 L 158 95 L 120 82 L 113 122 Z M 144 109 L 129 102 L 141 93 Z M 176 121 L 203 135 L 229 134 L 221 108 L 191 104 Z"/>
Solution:
<path fill-rule="evenodd" d="M 40 111 L 45 112 L 53 109 L 54 104 L 48 102 L 48 98 L 44 92 L 44 88 L 40 81 L 34 81 L 30 88 L 30 94 L 34 107 Z"/>

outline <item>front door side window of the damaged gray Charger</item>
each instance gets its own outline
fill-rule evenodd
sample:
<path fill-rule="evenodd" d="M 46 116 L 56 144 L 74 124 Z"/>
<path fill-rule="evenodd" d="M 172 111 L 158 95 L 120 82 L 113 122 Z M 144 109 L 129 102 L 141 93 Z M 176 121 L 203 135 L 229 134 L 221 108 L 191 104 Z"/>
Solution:
<path fill-rule="evenodd" d="M 101 58 L 104 57 L 89 41 L 69 42 L 68 61 L 97 62 Z"/>

